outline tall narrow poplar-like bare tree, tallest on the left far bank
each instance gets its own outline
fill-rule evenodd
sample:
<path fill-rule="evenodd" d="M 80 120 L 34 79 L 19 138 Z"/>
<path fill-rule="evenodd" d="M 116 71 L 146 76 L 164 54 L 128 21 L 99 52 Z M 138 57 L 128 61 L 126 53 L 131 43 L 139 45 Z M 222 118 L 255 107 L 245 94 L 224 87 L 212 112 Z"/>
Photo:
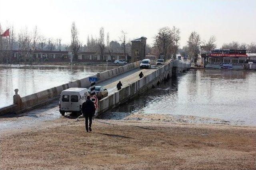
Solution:
<path fill-rule="evenodd" d="M 81 47 L 81 43 L 80 43 L 80 41 L 78 39 L 78 31 L 76 29 L 76 24 L 75 24 L 75 22 L 72 22 L 72 25 L 71 25 L 71 45 L 70 45 L 70 49 L 73 52 L 75 60 L 78 59 L 77 53 L 78 53 L 80 47 Z"/>

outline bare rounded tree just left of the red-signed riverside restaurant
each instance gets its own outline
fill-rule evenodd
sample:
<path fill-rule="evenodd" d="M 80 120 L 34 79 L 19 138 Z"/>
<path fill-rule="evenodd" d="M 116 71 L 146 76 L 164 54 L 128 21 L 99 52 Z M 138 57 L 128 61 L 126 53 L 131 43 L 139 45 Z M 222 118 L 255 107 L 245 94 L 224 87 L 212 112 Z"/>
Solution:
<path fill-rule="evenodd" d="M 188 38 L 188 49 L 194 58 L 194 63 L 197 62 L 197 57 L 200 53 L 200 44 L 200 35 L 196 31 L 193 31 Z"/>

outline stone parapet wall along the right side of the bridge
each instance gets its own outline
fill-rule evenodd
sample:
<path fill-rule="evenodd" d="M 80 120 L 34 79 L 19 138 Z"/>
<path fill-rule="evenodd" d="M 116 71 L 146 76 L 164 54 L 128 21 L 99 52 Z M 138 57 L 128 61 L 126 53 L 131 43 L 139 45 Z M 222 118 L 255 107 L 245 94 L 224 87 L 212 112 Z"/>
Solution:
<path fill-rule="evenodd" d="M 181 67 L 178 68 L 178 70 L 188 70 L 190 68 L 190 64 L 180 63 L 179 61 L 175 61 L 175 64 L 176 66 Z M 164 80 L 167 80 L 172 76 L 172 68 L 174 68 L 173 63 L 168 63 L 165 66 L 155 70 L 151 74 L 148 74 L 147 76 L 140 78 L 134 83 L 125 86 L 114 94 L 103 98 L 98 102 L 96 116 L 122 104 L 126 100 L 133 98 L 134 96 L 152 88 L 153 86 L 157 86 Z"/>

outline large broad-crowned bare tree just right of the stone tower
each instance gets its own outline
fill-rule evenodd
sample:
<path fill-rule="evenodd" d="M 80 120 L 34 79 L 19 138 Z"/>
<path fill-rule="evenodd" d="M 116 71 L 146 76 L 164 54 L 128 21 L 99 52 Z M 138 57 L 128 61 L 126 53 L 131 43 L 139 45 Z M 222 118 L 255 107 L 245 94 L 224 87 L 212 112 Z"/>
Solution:
<path fill-rule="evenodd" d="M 173 34 L 170 27 L 160 28 L 154 37 L 154 45 L 158 48 L 159 53 L 164 55 L 165 60 L 167 59 L 168 49 L 173 41 Z"/>

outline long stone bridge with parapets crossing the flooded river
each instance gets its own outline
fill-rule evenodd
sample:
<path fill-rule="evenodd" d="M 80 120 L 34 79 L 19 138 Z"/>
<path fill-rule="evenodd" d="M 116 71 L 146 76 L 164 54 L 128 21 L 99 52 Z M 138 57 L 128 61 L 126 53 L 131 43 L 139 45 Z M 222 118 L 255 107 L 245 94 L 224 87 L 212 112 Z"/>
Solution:
<path fill-rule="evenodd" d="M 122 104 L 128 99 L 141 94 L 145 90 L 154 88 L 155 86 L 160 85 L 163 81 L 168 80 L 172 76 L 177 76 L 190 68 L 190 64 L 182 63 L 178 60 L 172 61 L 164 66 L 152 66 L 150 69 L 140 69 L 139 66 L 140 61 L 92 76 L 98 78 L 96 85 L 105 86 L 109 92 L 109 95 L 106 98 L 98 101 L 96 115 L 100 115 L 101 113 Z M 143 78 L 139 78 L 138 76 L 141 71 L 144 74 Z M 122 82 L 123 86 L 121 90 L 117 91 L 116 84 L 119 81 Z M 16 94 L 13 97 L 14 104 L 1 108 L 0 115 L 22 113 L 36 108 L 46 108 L 46 110 L 51 110 L 52 108 L 47 105 L 50 102 L 55 104 L 55 112 L 58 110 L 57 107 L 60 93 L 71 87 L 89 88 L 89 78 L 82 78 L 24 97 L 20 97 L 18 90 L 16 90 Z"/>

